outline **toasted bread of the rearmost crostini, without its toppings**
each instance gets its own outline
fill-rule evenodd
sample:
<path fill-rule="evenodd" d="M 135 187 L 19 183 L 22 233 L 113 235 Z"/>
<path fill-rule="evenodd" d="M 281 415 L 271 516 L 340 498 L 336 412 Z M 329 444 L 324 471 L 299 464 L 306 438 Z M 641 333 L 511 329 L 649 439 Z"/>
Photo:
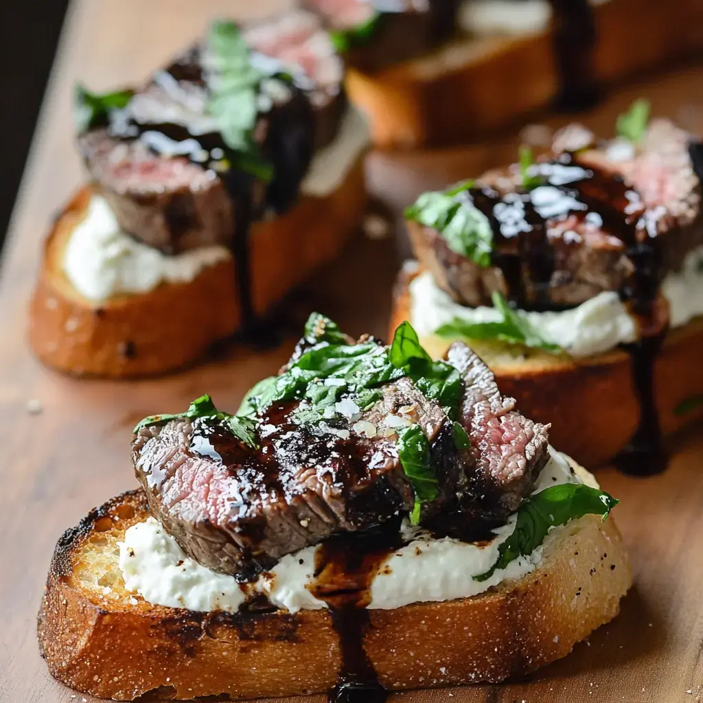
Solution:
<path fill-rule="evenodd" d="M 699 0 L 609 0 L 593 12 L 600 82 L 703 48 Z M 347 74 L 347 92 L 383 148 L 474 138 L 548 105 L 559 90 L 550 31 L 465 39 L 373 75 L 353 68 Z"/>

